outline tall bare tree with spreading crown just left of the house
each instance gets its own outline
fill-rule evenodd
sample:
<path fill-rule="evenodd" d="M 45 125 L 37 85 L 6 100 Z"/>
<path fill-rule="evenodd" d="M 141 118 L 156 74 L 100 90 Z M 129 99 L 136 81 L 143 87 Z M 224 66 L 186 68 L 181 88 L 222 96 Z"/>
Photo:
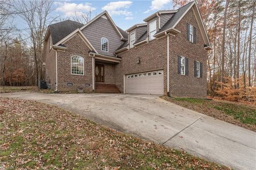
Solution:
<path fill-rule="evenodd" d="M 47 25 L 54 19 L 50 16 L 53 0 L 21 0 L 15 1 L 14 6 L 18 15 L 27 23 L 33 48 L 36 84 L 41 78 L 43 40 Z"/>

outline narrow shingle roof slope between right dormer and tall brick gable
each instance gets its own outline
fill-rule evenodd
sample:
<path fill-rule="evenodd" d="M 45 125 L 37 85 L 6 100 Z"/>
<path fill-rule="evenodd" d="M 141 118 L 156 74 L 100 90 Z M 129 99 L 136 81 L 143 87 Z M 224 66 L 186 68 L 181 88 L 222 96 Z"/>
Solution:
<path fill-rule="evenodd" d="M 194 3 L 194 1 L 180 7 L 178 9 L 178 12 L 174 13 L 174 15 L 170 18 L 169 21 L 167 21 L 164 26 L 159 29 L 156 33 L 159 33 L 159 32 L 162 32 L 162 31 L 165 31 L 169 28 L 172 28 L 173 25 L 181 18 L 181 16 L 183 15 L 183 13 L 185 13 L 187 11 L 187 9 L 189 8 L 189 6 L 191 5 L 191 3 Z"/>

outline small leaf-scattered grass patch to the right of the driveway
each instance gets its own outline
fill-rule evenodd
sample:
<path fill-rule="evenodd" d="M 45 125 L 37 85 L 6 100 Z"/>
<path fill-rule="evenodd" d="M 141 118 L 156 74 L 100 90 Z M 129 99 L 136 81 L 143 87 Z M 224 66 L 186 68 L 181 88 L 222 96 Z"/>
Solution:
<path fill-rule="evenodd" d="M 171 98 L 167 96 L 161 98 L 256 132 L 256 106 L 223 100 Z"/>

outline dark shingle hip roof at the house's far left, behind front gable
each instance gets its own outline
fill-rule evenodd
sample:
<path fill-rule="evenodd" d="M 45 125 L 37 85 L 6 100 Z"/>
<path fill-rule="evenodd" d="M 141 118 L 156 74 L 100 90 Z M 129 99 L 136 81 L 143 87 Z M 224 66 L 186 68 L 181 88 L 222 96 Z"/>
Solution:
<path fill-rule="evenodd" d="M 66 20 L 49 25 L 49 30 L 51 32 L 52 37 L 52 44 L 58 43 L 60 40 L 68 36 L 77 28 L 83 27 L 83 25 L 84 24 L 82 23 L 71 20 Z"/>

